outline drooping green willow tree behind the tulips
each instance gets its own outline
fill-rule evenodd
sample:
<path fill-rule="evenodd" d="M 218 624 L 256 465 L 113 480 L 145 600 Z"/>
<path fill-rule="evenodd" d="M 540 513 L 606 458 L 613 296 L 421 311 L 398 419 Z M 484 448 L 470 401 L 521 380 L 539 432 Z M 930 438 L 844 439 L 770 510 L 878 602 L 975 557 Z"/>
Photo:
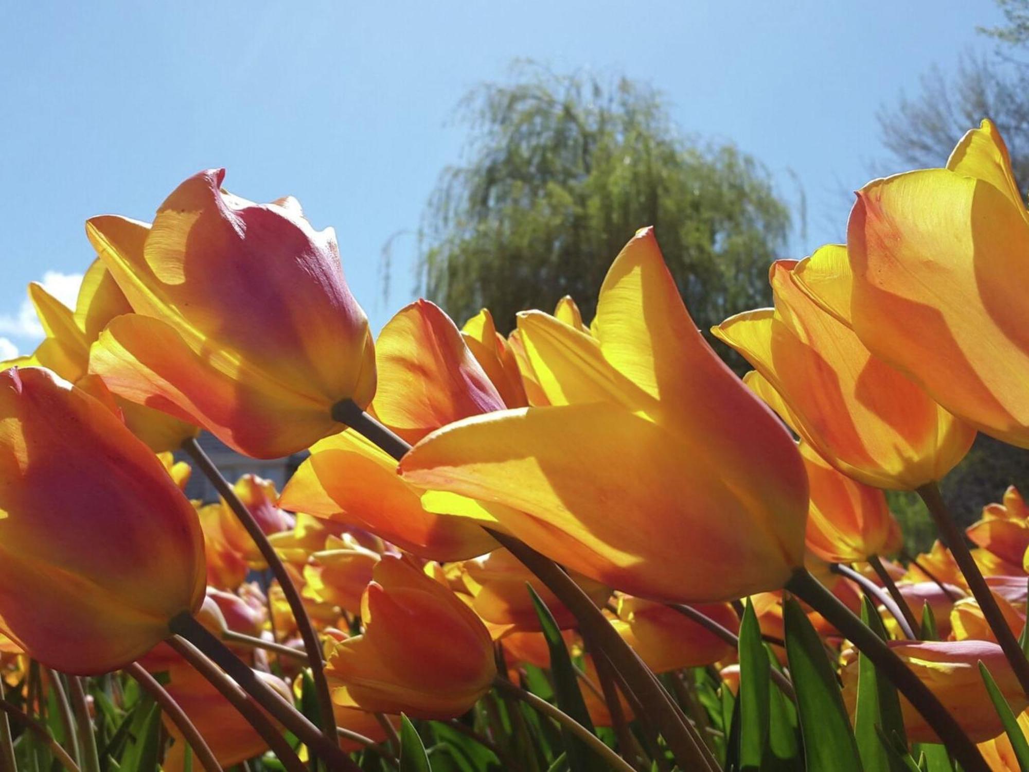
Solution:
<path fill-rule="evenodd" d="M 571 294 L 589 320 L 611 260 L 654 225 L 702 329 L 769 304 L 790 216 L 760 164 L 682 135 L 640 83 L 514 73 L 461 103 L 465 163 L 442 172 L 424 213 L 422 294 L 459 322 L 489 307 L 502 329 Z"/>

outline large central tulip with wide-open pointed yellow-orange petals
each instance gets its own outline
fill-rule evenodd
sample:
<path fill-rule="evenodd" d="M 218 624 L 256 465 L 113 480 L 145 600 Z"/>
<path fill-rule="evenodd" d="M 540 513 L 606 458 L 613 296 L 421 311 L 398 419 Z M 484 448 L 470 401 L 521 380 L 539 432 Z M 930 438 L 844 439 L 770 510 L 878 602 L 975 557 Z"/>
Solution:
<path fill-rule="evenodd" d="M 495 517 L 514 535 L 632 595 L 713 602 L 786 582 L 804 556 L 800 454 L 704 342 L 652 232 L 612 265 L 596 338 L 528 317 L 542 331 L 530 342 L 520 319 L 527 353 L 543 361 L 546 344 L 551 357 L 546 378 L 535 370 L 552 407 L 446 426 L 402 477 L 504 505 Z"/>

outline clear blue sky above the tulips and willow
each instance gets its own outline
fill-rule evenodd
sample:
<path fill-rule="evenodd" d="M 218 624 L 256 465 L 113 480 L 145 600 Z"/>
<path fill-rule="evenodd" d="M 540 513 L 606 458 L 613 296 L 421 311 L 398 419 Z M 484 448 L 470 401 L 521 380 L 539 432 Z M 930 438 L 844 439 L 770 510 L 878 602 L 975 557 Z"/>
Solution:
<path fill-rule="evenodd" d="M 975 26 L 999 21 L 989 0 L 15 4 L 0 26 L 0 358 L 40 335 L 28 282 L 74 297 L 86 217 L 149 219 L 214 166 L 234 192 L 291 194 L 333 225 L 380 327 L 412 299 L 404 234 L 460 160 L 455 104 L 520 57 L 649 81 L 684 132 L 736 142 L 784 196 L 795 174 L 809 250 L 841 238 L 845 191 L 883 156 L 876 109 L 932 64 L 989 50 Z"/>

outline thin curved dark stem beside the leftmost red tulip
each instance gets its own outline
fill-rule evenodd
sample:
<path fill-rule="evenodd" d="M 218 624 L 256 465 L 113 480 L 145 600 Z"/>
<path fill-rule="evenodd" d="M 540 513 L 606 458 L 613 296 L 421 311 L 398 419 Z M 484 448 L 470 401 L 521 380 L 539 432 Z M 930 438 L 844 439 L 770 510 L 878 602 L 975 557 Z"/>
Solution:
<path fill-rule="evenodd" d="M 218 467 L 214 465 L 214 462 L 204 452 L 204 449 L 200 447 L 197 437 L 186 440 L 182 444 L 182 449 L 201 468 L 207 479 L 211 481 L 215 490 L 218 491 L 219 495 L 225 500 L 225 503 L 228 504 L 236 517 L 239 518 L 240 523 L 242 523 L 247 533 L 250 534 L 250 538 L 253 539 L 260 551 L 264 562 L 272 569 L 272 573 L 279 580 L 279 587 L 282 588 L 283 597 L 285 597 L 286 602 L 289 604 L 289 610 L 293 613 L 293 619 L 296 621 L 296 628 L 304 639 L 304 648 L 308 653 L 308 664 L 311 667 L 311 677 L 315 682 L 315 694 L 318 697 L 318 710 L 321 713 L 322 731 L 327 740 L 334 741 L 335 716 L 332 712 L 332 696 L 329 694 L 328 681 L 325 678 L 321 641 L 318 638 L 318 633 L 315 632 L 314 626 L 311 624 L 311 618 L 308 617 L 308 612 L 304 608 L 304 601 L 300 599 L 300 594 L 296 590 L 296 586 L 286 571 L 286 566 L 283 565 L 279 554 L 272 547 L 272 542 L 268 540 L 268 536 L 264 535 L 264 531 L 260 529 L 260 526 L 257 525 L 257 521 L 254 520 L 253 515 L 250 514 L 246 504 L 240 500 L 240 497 L 236 495 L 236 491 L 233 490 L 233 487 L 225 478 L 218 471 Z"/>

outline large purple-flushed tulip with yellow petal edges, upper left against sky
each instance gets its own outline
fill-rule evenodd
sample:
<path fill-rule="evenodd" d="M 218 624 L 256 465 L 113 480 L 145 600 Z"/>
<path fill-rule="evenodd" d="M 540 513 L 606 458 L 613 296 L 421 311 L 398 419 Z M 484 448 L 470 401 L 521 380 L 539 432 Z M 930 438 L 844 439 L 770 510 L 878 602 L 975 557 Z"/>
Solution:
<path fill-rule="evenodd" d="M 278 458 L 340 431 L 336 402 L 368 403 L 374 346 L 332 230 L 312 229 L 295 199 L 254 204 L 223 178 L 185 180 L 152 225 L 88 220 L 135 312 L 107 325 L 90 369 L 131 401 Z"/>

